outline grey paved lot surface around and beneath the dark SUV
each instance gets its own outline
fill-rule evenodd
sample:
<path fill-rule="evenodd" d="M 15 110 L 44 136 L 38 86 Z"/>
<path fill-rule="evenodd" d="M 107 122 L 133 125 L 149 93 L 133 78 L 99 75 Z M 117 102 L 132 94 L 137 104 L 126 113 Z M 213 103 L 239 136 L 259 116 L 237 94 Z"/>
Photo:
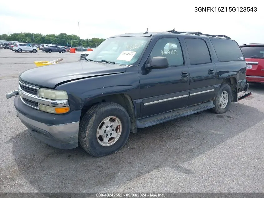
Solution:
<path fill-rule="evenodd" d="M 79 53 L 0 50 L 0 192 L 264 192 L 264 85 L 251 84 L 252 96 L 227 113 L 140 129 L 122 150 L 94 158 L 32 137 L 5 97 L 34 61 L 61 57 Z"/>

